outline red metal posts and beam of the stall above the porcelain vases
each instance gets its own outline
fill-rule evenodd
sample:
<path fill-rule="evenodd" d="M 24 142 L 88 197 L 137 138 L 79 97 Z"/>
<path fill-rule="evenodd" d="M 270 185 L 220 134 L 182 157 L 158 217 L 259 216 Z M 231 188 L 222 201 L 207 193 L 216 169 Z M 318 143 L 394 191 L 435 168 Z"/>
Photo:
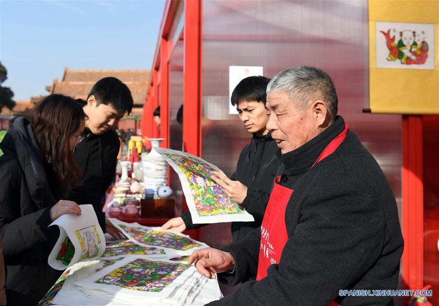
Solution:
<path fill-rule="evenodd" d="M 169 58 L 178 41 L 170 31 L 176 20 L 179 0 L 167 0 L 160 24 L 154 55 L 148 97 L 141 122 L 142 133 L 150 138 L 162 137 L 162 147 L 169 148 Z M 183 143 L 184 151 L 201 156 L 201 5 L 200 0 L 184 0 L 184 67 L 183 67 Z M 160 97 L 160 101 L 159 101 Z M 160 104 L 160 134 L 153 122 L 153 111 Z M 183 200 L 183 211 L 187 205 Z M 200 239 L 200 229 L 188 231 Z"/>

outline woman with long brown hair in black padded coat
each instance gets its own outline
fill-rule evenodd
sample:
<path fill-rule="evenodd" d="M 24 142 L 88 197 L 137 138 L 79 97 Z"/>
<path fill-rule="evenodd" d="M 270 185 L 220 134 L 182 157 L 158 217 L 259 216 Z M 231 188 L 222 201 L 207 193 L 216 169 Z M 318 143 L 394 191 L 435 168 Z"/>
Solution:
<path fill-rule="evenodd" d="M 8 305 L 36 305 L 60 275 L 47 258 L 59 235 L 50 223 L 80 207 L 63 200 L 80 179 L 73 149 L 85 126 L 72 98 L 50 95 L 19 117 L 0 143 L 0 232 Z"/>

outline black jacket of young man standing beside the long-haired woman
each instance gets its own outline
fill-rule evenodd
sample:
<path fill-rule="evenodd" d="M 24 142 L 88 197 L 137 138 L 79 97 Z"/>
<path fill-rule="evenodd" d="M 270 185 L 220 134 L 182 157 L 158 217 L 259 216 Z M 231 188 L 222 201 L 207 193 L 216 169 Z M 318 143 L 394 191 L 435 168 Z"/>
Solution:
<path fill-rule="evenodd" d="M 78 205 L 91 204 L 95 209 L 100 227 L 105 232 L 105 191 L 116 174 L 120 140 L 115 131 L 95 135 L 88 128 L 81 134 L 85 137 L 75 149 L 75 158 L 83 171 L 82 181 L 72 189 L 69 200 Z"/>

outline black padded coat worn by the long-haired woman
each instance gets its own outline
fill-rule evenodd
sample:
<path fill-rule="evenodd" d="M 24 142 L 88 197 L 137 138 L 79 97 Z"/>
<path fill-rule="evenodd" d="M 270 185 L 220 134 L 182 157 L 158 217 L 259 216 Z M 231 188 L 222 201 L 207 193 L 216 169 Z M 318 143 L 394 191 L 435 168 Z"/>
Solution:
<path fill-rule="evenodd" d="M 0 230 L 8 305 L 37 305 L 60 272 L 47 264 L 59 236 L 50 208 L 60 185 L 44 165 L 30 122 L 18 118 L 0 144 Z M 48 180 L 50 177 L 50 181 Z"/>

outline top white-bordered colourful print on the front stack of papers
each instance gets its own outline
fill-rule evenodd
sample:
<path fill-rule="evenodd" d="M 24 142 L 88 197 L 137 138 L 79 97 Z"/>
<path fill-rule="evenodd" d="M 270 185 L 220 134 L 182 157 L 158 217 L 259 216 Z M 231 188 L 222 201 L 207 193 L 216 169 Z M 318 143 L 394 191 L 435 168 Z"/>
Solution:
<path fill-rule="evenodd" d="M 190 304 L 206 281 L 184 262 L 128 255 L 75 285 L 88 297 L 112 303 L 182 305 Z"/>

